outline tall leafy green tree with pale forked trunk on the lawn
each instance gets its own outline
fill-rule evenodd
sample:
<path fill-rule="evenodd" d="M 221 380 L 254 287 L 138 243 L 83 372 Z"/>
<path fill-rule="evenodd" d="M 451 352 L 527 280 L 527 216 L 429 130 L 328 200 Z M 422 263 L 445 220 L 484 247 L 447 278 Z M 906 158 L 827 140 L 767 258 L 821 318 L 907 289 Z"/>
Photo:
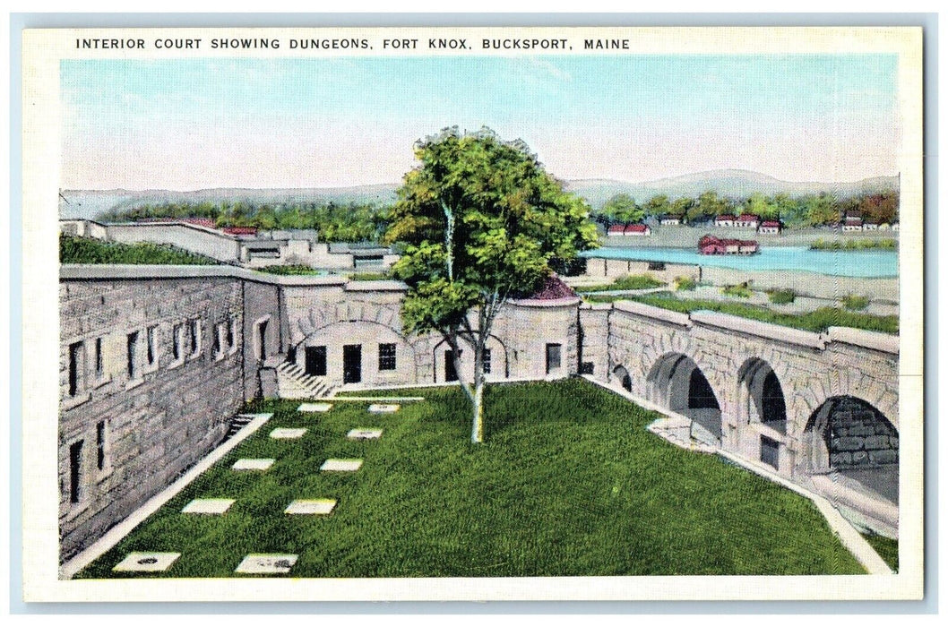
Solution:
<path fill-rule="evenodd" d="M 483 349 L 511 296 L 530 294 L 597 240 L 589 206 L 563 190 L 520 140 L 457 127 L 419 140 L 420 165 L 405 175 L 387 242 L 403 242 L 392 268 L 409 285 L 406 331 L 440 333 L 455 370 L 461 344 L 474 355 L 473 381 L 461 386 L 473 410 L 471 441 L 483 441 Z"/>

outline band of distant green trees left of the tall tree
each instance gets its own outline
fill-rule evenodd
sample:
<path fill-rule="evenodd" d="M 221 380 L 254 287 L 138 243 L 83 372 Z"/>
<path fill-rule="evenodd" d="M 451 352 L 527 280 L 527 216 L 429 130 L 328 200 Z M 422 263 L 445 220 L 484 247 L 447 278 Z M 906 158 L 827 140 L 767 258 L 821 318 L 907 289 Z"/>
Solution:
<path fill-rule="evenodd" d="M 377 242 L 389 224 L 389 206 L 371 203 L 300 202 L 285 204 L 223 201 L 147 204 L 112 209 L 106 222 L 208 218 L 218 227 L 255 226 L 264 230 L 312 228 L 322 242 Z"/>

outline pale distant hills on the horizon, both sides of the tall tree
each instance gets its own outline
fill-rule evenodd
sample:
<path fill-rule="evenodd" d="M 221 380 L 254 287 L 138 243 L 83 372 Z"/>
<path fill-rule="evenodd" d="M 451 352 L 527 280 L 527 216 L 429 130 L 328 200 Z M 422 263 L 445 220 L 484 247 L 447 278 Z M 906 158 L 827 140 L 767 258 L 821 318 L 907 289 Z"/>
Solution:
<path fill-rule="evenodd" d="M 830 191 L 843 197 L 893 189 L 897 188 L 898 184 L 899 179 L 896 176 L 879 176 L 850 183 L 800 183 L 781 181 L 772 176 L 749 170 L 711 170 L 643 183 L 609 179 L 574 180 L 567 181 L 566 187 L 585 198 L 593 208 L 598 208 L 618 193 L 627 193 L 639 202 L 644 202 L 655 194 L 665 194 L 672 200 L 683 196 L 696 197 L 708 189 L 713 189 L 719 195 L 730 198 L 744 198 L 755 191 L 767 195 L 782 192 L 791 196 Z M 222 200 L 256 204 L 328 203 L 334 201 L 342 204 L 375 203 L 377 205 L 387 205 L 394 201 L 396 188 L 398 188 L 397 183 L 351 188 L 212 188 L 196 191 L 64 189 L 62 192 L 64 199 L 60 199 L 60 216 L 62 218 L 94 219 L 113 208 L 131 208 L 145 204 L 219 202 Z"/>

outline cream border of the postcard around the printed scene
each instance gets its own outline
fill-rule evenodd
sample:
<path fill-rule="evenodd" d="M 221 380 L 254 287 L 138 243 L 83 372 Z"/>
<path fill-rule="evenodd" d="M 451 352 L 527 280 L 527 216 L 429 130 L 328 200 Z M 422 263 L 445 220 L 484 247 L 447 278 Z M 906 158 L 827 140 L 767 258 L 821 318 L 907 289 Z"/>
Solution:
<path fill-rule="evenodd" d="M 270 36 L 476 40 L 499 27 L 267 28 Z M 261 35 L 250 28 L 82 29 L 83 37 L 222 37 Z M 890 576 L 575 577 L 477 579 L 102 580 L 58 579 L 58 217 L 60 187 L 59 63 L 64 59 L 155 58 L 152 50 L 77 50 L 77 30 L 23 32 L 23 568 L 27 601 L 102 600 L 915 600 L 922 593 L 922 81 L 921 27 L 505 27 L 505 37 L 628 37 L 629 53 L 873 52 L 899 56 L 902 114 L 900 232 L 900 572 Z M 388 55 L 378 49 L 358 56 Z M 614 53 L 615 51 L 609 51 Z M 551 51 L 481 51 L 534 55 Z M 353 56 L 323 51 L 322 57 Z M 455 54 L 416 51 L 414 56 Z M 593 54 L 573 50 L 571 54 Z M 601 54 L 601 53 L 595 53 Z M 161 58 L 293 57 L 288 49 L 180 51 Z M 28 307 L 28 314 L 26 309 Z M 28 358 L 27 358 L 28 357 Z M 43 487 L 46 487 L 45 489 Z"/>

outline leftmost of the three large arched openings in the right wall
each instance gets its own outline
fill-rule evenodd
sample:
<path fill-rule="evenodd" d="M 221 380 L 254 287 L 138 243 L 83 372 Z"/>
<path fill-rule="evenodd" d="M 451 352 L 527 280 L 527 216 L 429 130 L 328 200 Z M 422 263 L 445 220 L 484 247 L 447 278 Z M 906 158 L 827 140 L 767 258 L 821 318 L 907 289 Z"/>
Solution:
<path fill-rule="evenodd" d="M 648 373 L 647 391 L 653 403 L 691 419 L 692 438 L 720 445 L 720 403 L 693 359 L 681 353 L 663 356 Z"/>

